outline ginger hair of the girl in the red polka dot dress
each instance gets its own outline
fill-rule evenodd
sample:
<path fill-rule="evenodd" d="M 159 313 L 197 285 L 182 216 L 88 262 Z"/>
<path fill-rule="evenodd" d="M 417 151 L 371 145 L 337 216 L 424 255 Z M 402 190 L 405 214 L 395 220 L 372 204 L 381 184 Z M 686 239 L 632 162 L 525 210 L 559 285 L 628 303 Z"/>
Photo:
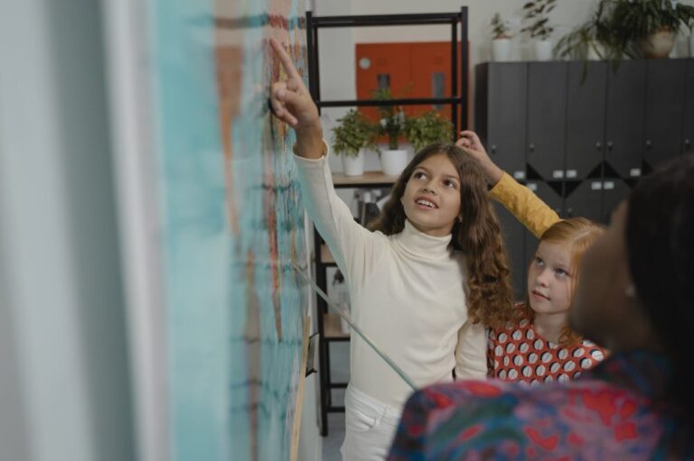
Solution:
<path fill-rule="evenodd" d="M 568 268 L 573 278 L 571 298 L 573 299 L 573 290 L 576 290 L 578 283 L 578 263 L 581 262 L 583 254 L 586 253 L 588 247 L 593 244 L 603 233 L 603 226 L 600 226 L 590 219 L 585 217 L 570 217 L 549 226 L 549 228 L 539 237 L 539 242 L 548 242 L 551 244 L 567 244 L 570 252 L 569 261 L 571 266 Z M 538 243 L 539 245 L 539 243 Z M 534 258 L 534 256 L 533 256 Z M 532 263 L 530 263 L 532 264 Z M 532 321 L 535 318 L 535 311 L 530 308 L 530 295 L 526 295 L 525 305 L 519 309 L 518 321 L 521 318 L 528 318 Z M 560 346 L 570 346 L 577 344 L 583 338 L 574 330 L 565 326 L 561 330 L 559 337 Z"/>

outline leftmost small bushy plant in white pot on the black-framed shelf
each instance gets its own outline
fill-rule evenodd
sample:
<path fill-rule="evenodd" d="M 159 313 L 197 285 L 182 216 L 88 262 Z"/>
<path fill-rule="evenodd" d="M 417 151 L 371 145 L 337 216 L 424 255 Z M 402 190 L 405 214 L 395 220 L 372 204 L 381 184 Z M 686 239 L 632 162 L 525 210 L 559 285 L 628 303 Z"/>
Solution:
<path fill-rule="evenodd" d="M 376 147 L 376 127 L 358 110 L 350 109 L 333 128 L 333 151 L 342 155 L 346 176 L 364 174 L 364 150 Z"/>

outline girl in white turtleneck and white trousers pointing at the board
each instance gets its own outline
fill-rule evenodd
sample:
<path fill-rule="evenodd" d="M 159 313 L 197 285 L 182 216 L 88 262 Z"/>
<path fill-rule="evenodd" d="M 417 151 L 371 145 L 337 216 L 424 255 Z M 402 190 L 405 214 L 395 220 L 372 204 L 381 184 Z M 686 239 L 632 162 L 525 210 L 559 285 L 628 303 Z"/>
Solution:
<path fill-rule="evenodd" d="M 361 227 L 333 189 L 318 110 L 282 45 L 271 45 L 288 76 L 273 84 L 273 112 L 295 129 L 306 211 L 345 275 L 353 320 L 417 386 L 483 379 L 484 326 L 512 306 L 483 171 L 455 144 L 427 146 L 372 229 Z M 411 389 L 361 337 L 350 352 L 342 456 L 381 459 Z"/>

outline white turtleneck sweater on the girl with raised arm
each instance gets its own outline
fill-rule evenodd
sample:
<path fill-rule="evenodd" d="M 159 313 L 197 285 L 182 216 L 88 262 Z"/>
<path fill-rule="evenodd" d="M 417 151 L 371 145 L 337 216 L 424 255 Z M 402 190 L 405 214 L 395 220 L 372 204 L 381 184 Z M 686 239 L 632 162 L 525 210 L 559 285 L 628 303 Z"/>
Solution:
<path fill-rule="evenodd" d="M 345 275 L 352 318 L 418 386 L 487 374 L 484 327 L 467 318 L 465 268 L 451 235 L 370 232 L 337 197 L 327 155 L 295 155 L 308 215 Z M 411 388 L 352 335 L 351 385 L 396 410 Z"/>

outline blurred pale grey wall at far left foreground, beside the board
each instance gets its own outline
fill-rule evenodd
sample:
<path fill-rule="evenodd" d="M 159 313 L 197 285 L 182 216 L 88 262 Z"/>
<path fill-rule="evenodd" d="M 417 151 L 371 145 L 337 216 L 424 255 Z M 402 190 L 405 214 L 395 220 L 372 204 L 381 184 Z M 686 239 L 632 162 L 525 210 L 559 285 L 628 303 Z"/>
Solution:
<path fill-rule="evenodd" d="M 2 5 L 0 457 L 133 459 L 99 4 Z"/>

